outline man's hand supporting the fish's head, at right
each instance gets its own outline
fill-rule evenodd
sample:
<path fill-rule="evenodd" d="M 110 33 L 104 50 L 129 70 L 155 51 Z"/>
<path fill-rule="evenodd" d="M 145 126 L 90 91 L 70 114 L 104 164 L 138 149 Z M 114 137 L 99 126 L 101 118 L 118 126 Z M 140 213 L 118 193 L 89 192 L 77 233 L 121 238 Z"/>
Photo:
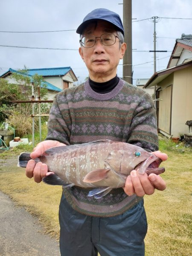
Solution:
<path fill-rule="evenodd" d="M 152 152 L 156 157 L 159 157 L 161 160 L 167 160 L 168 156 L 165 153 L 160 151 Z M 136 170 L 131 171 L 131 174 L 127 177 L 124 191 L 127 195 L 136 194 L 138 196 L 152 195 L 154 190 L 164 190 L 166 189 L 166 183 L 160 177 L 160 175 L 155 175 L 151 173 L 150 175 L 139 174 Z"/>

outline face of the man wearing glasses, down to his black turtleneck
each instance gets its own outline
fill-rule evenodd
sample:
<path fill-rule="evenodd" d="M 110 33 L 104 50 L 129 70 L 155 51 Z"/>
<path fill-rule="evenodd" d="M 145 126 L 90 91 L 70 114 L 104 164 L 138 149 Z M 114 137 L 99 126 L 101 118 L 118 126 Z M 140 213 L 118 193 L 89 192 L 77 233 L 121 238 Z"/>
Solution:
<path fill-rule="evenodd" d="M 84 29 L 83 35 L 94 35 L 100 37 L 105 33 L 115 33 L 114 26 L 106 21 L 98 21 L 90 24 Z M 91 48 L 79 48 L 81 58 L 84 60 L 87 69 L 89 70 L 90 79 L 97 82 L 109 81 L 116 76 L 116 68 L 119 64 L 119 59 L 123 58 L 126 44 L 123 43 L 119 48 L 119 38 L 113 45 L 105 46 L 99 38 L 96 39 L 96 44 Z"/>

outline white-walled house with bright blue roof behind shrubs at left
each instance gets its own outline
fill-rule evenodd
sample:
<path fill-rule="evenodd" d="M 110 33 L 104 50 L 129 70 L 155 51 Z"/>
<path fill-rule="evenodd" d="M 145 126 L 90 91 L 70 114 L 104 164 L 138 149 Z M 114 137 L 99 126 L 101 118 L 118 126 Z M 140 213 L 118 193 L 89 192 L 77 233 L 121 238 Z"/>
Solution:
<path fill-rule="evenodd" d="M 15 81 L 12 79 L 12 73 L 20 73 L 18 70 L 10 68 L 0 78 L 8 80 L 10 83 Z M 68 87 L 73 86 L 73 82 L 77 81 L 76 75 L 73 73 L 71 67 L 52 67 L 40 69 L 28 69 L 28 76 L 38 74 L 43 76 L 44 83 L 48 89 L 48 99 L 53 99 L 55 94 Z"/>

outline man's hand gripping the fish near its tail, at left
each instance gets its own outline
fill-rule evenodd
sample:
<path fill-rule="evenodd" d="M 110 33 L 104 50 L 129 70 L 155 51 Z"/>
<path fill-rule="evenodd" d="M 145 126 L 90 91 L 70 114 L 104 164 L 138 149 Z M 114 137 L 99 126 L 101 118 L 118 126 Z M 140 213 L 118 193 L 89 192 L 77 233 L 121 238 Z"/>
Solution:
<path fill-rule="evenodd" d="M 35 159 L 40 157 L 48 148 L 65 146 L 66 144 L 60 143 L 56 140 L 45 140 L 40 143 L 33 149 L 33 152 L 30 154 L 31 158 Z M 42 178 L 46 176 L 48 172 L 47 165 L 45 163 L 35 164 L 34 160 L 29 160 L 26 166 L 26 176 L 28 178 L 34 178 L 35 182 L 40 183 Z"/>

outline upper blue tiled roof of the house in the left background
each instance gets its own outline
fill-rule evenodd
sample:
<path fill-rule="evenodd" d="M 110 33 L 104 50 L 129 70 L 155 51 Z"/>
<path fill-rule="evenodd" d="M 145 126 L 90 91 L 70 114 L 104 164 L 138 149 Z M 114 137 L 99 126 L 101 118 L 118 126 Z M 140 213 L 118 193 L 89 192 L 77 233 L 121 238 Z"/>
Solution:
<path fill-rule="evenodd" d="M 51 67 L 29 69 L 29 75 L 38 74 L 39 76 L 64 76 L 71 70 L 71 67 Z"/>

